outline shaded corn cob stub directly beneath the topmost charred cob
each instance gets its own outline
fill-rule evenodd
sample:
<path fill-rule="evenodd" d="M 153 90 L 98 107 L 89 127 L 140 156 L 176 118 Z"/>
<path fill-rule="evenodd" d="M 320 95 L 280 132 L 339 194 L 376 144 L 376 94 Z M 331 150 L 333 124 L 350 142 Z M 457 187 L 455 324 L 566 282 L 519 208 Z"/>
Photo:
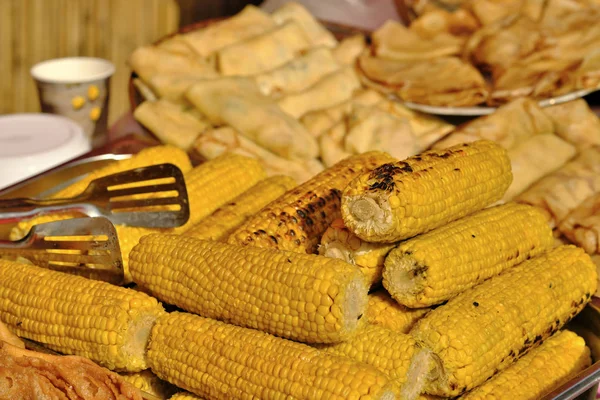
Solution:
<path fill-rule="evenodd" d="M 321 238 L 319 254 L 325 257 L 339 258 L 358 266 L 373 286 L 381 281 L 383 261 L 395 244 L 368 243 L 350 232 L 341 218 L 331 223 Z"/>

